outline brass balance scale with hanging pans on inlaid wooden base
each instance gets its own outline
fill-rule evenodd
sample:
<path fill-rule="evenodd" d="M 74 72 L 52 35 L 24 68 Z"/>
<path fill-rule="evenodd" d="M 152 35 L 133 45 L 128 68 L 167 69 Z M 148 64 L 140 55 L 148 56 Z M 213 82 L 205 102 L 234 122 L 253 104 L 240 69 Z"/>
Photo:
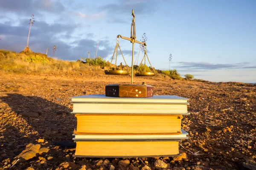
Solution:
<path fill-rule="evenodd" d="M 132 23 L 131 23 L 131 37 L 128 38 L 128 37 L 124 37 L 122 35 L 117 35 L 117 37 L 116 37 L 116 48 L 115 48 L 114 53 L 113 53 L 113 57 L 116 53 L 116 60 L 117 60 L 118 47 L 120 49 L 119 38 L 131 41 L 131 43 L 132 43 L 131 84 L 109 84 L 109 85 L 105 86 L 106 96 L 110 96 L 110 97 L 130 97 L 130 98 L 147 98 L 147 97 L 152 97 L 154 95 L 154 87 L 153 86 L 147 85 L 147 84 L 145 84 L 145 82 L 143 82 L 143 84 L 133 84 L 134 43 L 142 44 L 145 47 L 146 47 L 146 43 L 136 40 L 134 10 L 132 10 L 132 16 L 133 16 L 133 18 L 132 18 Z M 120 52 L 122 54 L 121 49 L 120 49 Z M 145 60 L 145 56 L 147 56 L 147 59 L 148 59 L 146 48 L 145 48 L 145 55 L 143 57 L 144 60 Z M 111 63 L 113 61 L 113 57 L 112 57 Z M 125 61 L 125 58 L 124 58 L 123 55 L 122 55 L 122 57 Z M 141 66 L 142 62 L 140 63 L 140 66 Z M 148 59 L 148 62 L 150 63 L 149 59 Z M 126 64 L 126 61 L 125 61 L 125 64 Z M 115 66 L 116 66 L 116 64 L 115 64 Z M 126 64 L 126 66 L 127 66 L 127 64 Z M 150 66 L 151 66 L 151 63 L 150 63 Z M 111 65 L 110 65 L 110 67 L 111 67 Z M 129 67 L 128 66 L 127 66 L 128 71 L 126 71 L 126 70 L 116 70 L 116 67 L 115 67 L 114 70 L 111 70 L 110 67 L 109 67 L 108 70 L 105 70 L 105 74 L 107 74 L 107 75 L 129 75 Z M 152 66 L 151 66 L 151 69 L 153 69 Z M 136 76 L 154 76 L 155 71 L 153 69 L 153 72 L 137 72 L 135 75 Z"/>

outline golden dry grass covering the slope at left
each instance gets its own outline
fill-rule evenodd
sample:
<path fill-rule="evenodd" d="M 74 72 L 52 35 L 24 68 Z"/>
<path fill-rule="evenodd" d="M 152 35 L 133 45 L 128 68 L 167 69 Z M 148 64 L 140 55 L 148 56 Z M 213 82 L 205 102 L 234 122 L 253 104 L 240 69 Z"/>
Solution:
<path fill-rule="evenodd" d="M 47 55 L 33 52 L 9 52 L 0 50 L 0 70 L 17 73 L 79 73 L 96 71 L 93 67 L 80 61 L 63 61 L 48 58 Z M 101 69 L 102 70 L 102 69 Z"/>

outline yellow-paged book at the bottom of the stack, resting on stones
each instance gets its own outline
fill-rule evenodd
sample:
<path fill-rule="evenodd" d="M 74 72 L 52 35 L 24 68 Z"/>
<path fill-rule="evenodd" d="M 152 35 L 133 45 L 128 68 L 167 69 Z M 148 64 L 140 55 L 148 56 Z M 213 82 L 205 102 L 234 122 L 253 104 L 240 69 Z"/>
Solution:
<path fill-rule="evenodd" d="M 179 155 L 180 140 L 76 140 L 76 157 L 156 157 Z"/>

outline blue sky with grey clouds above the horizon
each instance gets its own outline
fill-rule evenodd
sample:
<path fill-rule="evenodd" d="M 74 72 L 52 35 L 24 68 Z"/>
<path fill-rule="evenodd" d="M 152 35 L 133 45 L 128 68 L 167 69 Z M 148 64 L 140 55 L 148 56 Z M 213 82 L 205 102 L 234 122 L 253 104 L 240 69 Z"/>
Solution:
<path fill-rule="evenodd" d="M 56 58 L 76 61 L 88 52 L 94 58 L 99 41 L 97 56 L 111 61 L 116 36 L 131 36 L 132 9 L 137 40 L 146 34 L 155 69 L 214 82 L 256 82 L 255 0 L 0 0 L 0 49 L 26 47 L 34 14 L 33 52 L 49 48 L 52 57 L 55 45 Z M 124 39 L 119 44 L 131 66 L 132 44 Z M 134 46 L 134 63 L 140 64 L 143 53 Z"/>

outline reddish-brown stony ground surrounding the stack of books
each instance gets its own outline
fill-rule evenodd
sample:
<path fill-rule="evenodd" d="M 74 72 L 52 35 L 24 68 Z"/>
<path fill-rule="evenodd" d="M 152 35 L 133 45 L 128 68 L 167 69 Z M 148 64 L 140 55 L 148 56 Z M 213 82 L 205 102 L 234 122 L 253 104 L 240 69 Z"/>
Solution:
<path fill-rule="evenodd" d="M 145 81 L 153 85 L 154 95 L 190 99 L 191 115 L 184 116 L 182 121 L 189 140 L 180 145 L 180 152 L 188 158 L 124 158 L 129 165 L 126 167 L 121 166 L 122 158 L 74 158 L 74 147 L 56 146 L 56 142 L 73 142 L 76 118 L 70 114 L 70 97 L 104 94 L 105 85 L 128 84 L 129 76 L 1 73 L 0 80 L 0 170 L 155 170 L 159 169 L 156 160 L 162 160 L 157 164 L 170 170 L 254 168 L 256 85 L 134 78 L 135 84 Z M 17 160 L 29 143 L 40 144 L 43 149 L 27 161 Z"/>

